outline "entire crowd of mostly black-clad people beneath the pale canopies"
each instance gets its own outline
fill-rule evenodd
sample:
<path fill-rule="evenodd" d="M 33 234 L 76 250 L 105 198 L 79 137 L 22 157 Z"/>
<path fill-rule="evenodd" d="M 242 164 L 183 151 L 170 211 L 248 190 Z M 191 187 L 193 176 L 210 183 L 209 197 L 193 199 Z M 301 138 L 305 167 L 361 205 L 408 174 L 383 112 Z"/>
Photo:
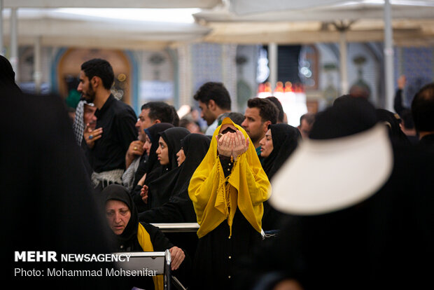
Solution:
<path fill-rule="evenodd" d="M 18 121 L 2 142 L 2 152 L 16 152 L 8 160 L 26 158 L 13 168 L 7 168 L 13 161 L 2 160 L 3 178 L 10 202 L 27 208 L 26 221 L 41 219 L 34 231 L 43 239 L 34 244 L 59 251 L 169 249 L 174 275 L 188 289 L 362 289 L 428 281 L 434 83 L 407 109 L 400 105 L 400 78 L 397 113 L 344 95 L 325 111 L 302 116 L 299 127 L 286 123 L 276 97 L 248 99 L 239 113 L 231 111 L 223 83 L 204 83 L 193 97 L 208 125 L 202 132 L 165 102 L 143 104 L 137 117 L 111 94 L 114 75 L 106 60 L 84 62 L 79 72 L 82 97 L 70 120 L 59 97 L 34 101 L 23 94 L 1 57 L 9 98 L 3 118 L 19 106 L 28 113 L 20 116 L 37 116 L 32 123 L 45 127 L 29 136 L 43 154 L 19 156 Z M 34 184 L 18 186 L 22 174 Z M 57 195 L 52 216 L 31 218 L 33 192 L 41 208 Z M 85 214 L 71 214 L 72 205 Z M 198 223 L 199 229 L 172 237 L 151 223 Z M 64 230 L 47 233 L 51 224 Z M 18 230 L 10 233 L 14 241 L 25 239 Z M 71 244 L 62 242 L 70 237 Z M 162 283 L 153 277 L 121 285 L 162 289 Z"/>

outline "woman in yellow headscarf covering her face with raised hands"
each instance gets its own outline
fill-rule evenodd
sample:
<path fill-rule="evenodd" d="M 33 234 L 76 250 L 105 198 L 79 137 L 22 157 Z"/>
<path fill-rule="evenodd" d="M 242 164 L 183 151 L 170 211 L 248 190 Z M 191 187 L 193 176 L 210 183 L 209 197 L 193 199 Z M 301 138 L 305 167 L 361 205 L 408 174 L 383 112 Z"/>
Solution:
<path fill-rule="evenodd" d="M 261 240 L 270 185 L 242 127 L 225 118 L 193 174 L 188 194 L 200 228 L 190 289 L 231 289 L 234 263 Z"/>

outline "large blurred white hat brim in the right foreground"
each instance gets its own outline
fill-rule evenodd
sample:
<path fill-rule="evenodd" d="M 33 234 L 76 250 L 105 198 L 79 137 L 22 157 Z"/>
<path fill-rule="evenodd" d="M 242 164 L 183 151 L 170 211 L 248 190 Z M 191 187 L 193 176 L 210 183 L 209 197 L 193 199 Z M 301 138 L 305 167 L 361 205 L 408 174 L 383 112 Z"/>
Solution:
<path fill-rule="evenodd" d="M 334 139 L 305 139 L 272 179 L 270 204 L 288 214 L 325 214 L 356 205 L 390 177 L 386 127 Z"/>

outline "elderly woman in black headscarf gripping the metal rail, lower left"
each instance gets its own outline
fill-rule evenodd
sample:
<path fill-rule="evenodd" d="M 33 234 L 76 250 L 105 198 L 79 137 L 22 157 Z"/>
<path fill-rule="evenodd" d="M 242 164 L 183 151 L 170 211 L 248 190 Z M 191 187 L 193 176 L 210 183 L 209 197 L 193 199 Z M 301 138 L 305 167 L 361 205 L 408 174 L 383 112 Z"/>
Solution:
<path fill-rule="evenodd" d="M 130 193 L 124 186 L 111 184 L 102 191 L 105 197 L 107 223 L 113 233 L 113 251 L 165 251 L 169 249 L 172 256 L 172 270 L 177 270 L 186 255 L 174 245 L 155 226 L 139 223 L 137 209 Z M 152 287 L 151 281 L 143 280 L 145 288 Z M 162 277 L 153 277 L 155 289 L 163 289 Z M 150 285 L 151 284 L 151 285 Z M 139 286 L 139 285 L 135 285 Z M 142 285 L 140 285 L 142 286 Z"/>

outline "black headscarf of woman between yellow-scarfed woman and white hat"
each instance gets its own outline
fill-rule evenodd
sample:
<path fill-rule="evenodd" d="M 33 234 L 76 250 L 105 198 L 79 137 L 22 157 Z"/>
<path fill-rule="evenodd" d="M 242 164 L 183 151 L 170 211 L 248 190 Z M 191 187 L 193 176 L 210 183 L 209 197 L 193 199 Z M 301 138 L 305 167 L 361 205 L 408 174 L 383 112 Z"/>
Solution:
<path fill-rule="evenodd" d="M 269 125 L 272 132 L 273 151 L 262 162 L 262 167 L 269 180 L 285 163 L 286 159 L 297 148 L 298 141 L 301 138 L 300 131 L 288 124 Z"/>

